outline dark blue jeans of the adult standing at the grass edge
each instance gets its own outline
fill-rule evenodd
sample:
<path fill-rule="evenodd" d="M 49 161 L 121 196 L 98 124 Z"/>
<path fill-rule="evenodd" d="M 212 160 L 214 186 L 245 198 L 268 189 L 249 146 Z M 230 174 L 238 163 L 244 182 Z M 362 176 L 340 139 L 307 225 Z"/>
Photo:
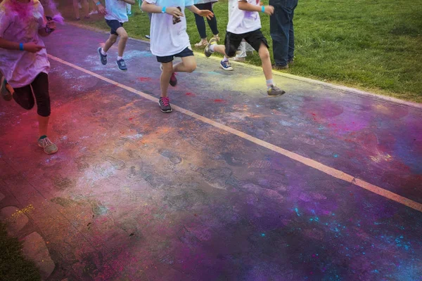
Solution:
<path fill-rule="evenodd" d="M 293 60 L 295 52 L 293 15 L 298 0 L 269 0 L 269 4 L 274 6 L 274 15 L 269 18 L 274 60 L 276 65 L 285 66 Z"/>

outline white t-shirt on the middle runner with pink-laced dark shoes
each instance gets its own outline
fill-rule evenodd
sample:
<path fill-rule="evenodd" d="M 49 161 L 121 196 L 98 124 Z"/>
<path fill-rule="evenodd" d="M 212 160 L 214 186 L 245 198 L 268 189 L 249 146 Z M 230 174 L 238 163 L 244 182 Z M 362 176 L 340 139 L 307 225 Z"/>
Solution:
<path fill-rule="evenodd" d="M 193 0 L 146 0 L 149 4 L 165 7 L 180 7 L 184 13 L 185 7 L 193 6 Z M 151 18 L 151 53 L 159 57 L 176 55 L 185 48 L 191 47 L 186 32 L 186 17 L 180 17 L 180 22 L 173 25 L 173 16 L 167 13 L 153 13 Z"/>

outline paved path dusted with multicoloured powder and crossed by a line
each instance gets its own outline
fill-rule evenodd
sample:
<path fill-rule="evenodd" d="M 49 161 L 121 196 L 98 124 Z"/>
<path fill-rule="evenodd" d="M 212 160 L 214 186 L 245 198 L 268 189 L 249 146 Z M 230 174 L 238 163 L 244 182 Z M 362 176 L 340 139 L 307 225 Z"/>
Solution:
<path fill-rule="evenodd" d="M 422 280 L 419 105 L 282 75 L 268 98 L 198 55 L 165 115 L 149 45 L 120 72 L 107 37 L 46 39 L 56 155 L 0 100 L 1 216 L 45 280 Z"/>

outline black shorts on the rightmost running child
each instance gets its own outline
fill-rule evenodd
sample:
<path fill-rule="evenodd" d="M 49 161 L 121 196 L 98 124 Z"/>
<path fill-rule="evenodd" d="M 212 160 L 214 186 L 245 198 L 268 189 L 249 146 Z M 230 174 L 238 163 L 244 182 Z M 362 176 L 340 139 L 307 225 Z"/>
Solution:
<path fill-rule="evenodd" d="M 224 42 L 224 46 L 226 47 L 226 55 L 229 57 L 234 57 L 243 39 L 245 39 L 245 41 L 247 41 L 248 44 L 250 44 L 250 46 L 255 49 L 255 51 L 260 51 L 261 43 L 264 43 L 265 46 L 269 48 L 267 38 L 264 37 L 264 34 L 262 34 L 261 30 L 255 30 L 243 34 L 226 32 L 226 41 Z"/>

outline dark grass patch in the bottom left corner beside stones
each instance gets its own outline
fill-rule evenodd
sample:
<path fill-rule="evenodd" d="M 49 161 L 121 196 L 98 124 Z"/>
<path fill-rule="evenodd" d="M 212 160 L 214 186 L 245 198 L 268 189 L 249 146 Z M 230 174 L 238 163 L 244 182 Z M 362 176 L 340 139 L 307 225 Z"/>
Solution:
<path fill-rule="evenodd" d="M 22 254 L 18 239 L 7 235 L 6 226 L 0 222 L 0 280 L 39 281 L 41 276 L 32 261 Z"/>

